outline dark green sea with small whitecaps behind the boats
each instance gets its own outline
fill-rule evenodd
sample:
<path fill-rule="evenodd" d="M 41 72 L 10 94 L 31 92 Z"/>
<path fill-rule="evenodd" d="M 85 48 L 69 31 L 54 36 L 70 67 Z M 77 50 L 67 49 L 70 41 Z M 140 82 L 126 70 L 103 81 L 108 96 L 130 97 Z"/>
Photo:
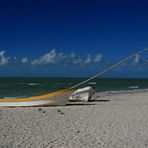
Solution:
<path fill-rule="evenodd" d="M 42 95 L 73 86 L 87 78 L 0 78 L 0 97 Z M 81 86 L 93 86 L 97 92 L 148 88 L 148 79 L 97 78 Z"/>

